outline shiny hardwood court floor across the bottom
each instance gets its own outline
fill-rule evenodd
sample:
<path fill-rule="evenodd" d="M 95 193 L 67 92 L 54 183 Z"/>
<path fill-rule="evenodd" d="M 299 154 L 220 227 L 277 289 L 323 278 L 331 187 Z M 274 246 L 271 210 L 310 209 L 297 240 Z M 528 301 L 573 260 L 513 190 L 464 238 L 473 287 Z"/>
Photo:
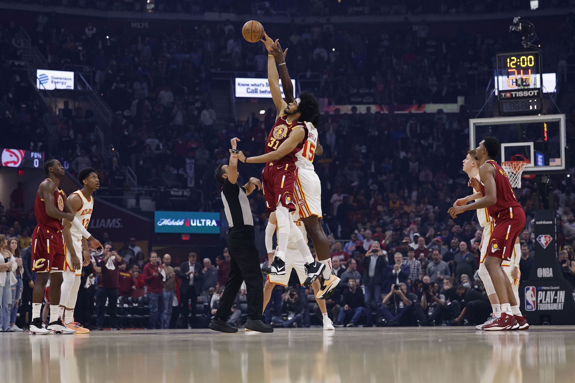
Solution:
<path fill-rule="evenodd" d="M 5 382 L 575 382 L 575 326 L 0 334 Z"/>

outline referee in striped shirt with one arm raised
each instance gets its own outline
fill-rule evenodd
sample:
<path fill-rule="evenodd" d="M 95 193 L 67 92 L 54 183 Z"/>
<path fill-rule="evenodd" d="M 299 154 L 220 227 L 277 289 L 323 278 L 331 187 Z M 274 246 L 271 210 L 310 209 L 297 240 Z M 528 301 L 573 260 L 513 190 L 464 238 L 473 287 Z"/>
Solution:
<path fill-rule="evenodd" d="M 248 320 L 246 329 L 259 332 L 273 332 L 274 329 L 262 322 L 263 285 L 262 270 L 259 265 L 259 253 L 254 241 L 254 219 L 251 215 L 250 202 L 247 196 L 256 187 L 262 189 L 262 183 L 250 178 L 247 184 L 237 184 L 236 145 L 239 138 L 232 138 L 232 154 L 229 165 L 216 168 L 216 181 L 223 184 L 221 200 L 224 203 L 225 216 L 228 219 L 229 279 L 220 299 L 216 315 L 209 328 L 221 332 L 237 332 L 237 327 L 227 322 L 229 312 L 236 300 L 237 292 L 243 281 L 246 281 L 248 299 Z"/>

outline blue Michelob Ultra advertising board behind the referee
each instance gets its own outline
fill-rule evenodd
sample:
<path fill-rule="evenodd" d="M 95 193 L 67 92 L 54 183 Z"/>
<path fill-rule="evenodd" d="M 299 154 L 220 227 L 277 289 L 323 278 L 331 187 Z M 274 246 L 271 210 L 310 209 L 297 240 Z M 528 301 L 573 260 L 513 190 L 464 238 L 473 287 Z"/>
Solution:
<path fill-rule="evenodd" d="M 220 213 L 209 211 L 156 211 L 156 233 L 220 234 Z"/>

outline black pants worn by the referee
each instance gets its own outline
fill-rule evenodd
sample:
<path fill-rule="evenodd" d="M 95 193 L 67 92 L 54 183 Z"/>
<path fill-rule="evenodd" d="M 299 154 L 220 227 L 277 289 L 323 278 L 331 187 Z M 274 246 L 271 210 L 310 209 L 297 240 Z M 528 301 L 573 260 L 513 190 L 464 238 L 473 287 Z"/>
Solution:
<path fill-rule="evenodd" d="M 228 319 L 241 283 L 246 281 L 248 318 L 261 319 L 263 311 L 262 269 L 259 266 L 259 253 L 255 247 L 254 226 L 234 226 L 229 229 L 228 250 L 229 279 L 220 298 L 216 316 Z"/>

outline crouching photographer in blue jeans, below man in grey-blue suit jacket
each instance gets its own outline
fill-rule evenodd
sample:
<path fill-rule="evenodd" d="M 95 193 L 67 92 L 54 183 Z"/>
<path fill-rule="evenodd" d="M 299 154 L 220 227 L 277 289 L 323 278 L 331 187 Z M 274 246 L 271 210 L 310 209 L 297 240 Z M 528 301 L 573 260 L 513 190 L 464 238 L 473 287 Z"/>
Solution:
<path fill-rule="evenodd" d="M 393 284 L 391 291 L 385 296 L 378 308 L 378 317 L 383 316 L 385 318 L 385 320 L 378 318 L 378 327 L 409 326 L 411 323 L 409 313 L 411 313 L 413 302 L 416 300 L 415 294 L 407 292 L 405 283 Z"/>

